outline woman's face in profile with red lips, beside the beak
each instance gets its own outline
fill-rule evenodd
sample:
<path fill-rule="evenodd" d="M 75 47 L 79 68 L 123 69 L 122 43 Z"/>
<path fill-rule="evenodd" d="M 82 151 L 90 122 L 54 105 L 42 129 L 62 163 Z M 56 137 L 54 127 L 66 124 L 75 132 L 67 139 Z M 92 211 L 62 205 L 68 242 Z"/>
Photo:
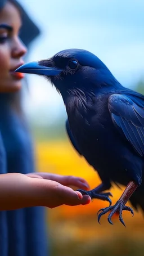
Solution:
<path fill-rule="evenodd" d="M 24 74 L 14 73 L 24 64 L 22 57 L 26 53 L 19 38 L 20 27 L 19 10 L 7 2 L 0 11 L 0 93 L 15 92 L 21 88 Z"/>

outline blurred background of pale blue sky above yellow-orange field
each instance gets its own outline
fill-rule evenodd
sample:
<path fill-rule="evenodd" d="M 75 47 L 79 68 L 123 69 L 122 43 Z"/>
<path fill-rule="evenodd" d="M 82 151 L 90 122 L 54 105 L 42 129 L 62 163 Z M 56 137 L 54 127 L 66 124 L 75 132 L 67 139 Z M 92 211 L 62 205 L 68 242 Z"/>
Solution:
<path fill-rule="evenodd" d="M 144 94 L 143 0 L 19 0 L 41 30 L 31 44 L 28 59 L 53 56 L 66 48 L 95 53 L 123 86 Z M 91 188 L 100 180 L 71 146 L 65 131 L 66 111 L 61 96 L 46 80 L 27 75 L 24 107 L 35 142 L 37 170 L 86 178 Z M 123 191 L 113 186 L 113 204 Z M 107 203 L 93 200 L 87 206 L 61 206 L 47 211 L 51 255 L 143 255 L 144 219 L 123 213 L 125 228 L 114 216 L 97 222 Z"/>

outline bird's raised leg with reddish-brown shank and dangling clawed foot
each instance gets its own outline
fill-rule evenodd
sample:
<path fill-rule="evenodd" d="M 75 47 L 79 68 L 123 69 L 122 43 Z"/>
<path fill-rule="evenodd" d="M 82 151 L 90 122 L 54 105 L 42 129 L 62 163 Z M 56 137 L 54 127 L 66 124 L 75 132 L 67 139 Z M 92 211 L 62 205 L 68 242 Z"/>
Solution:
<path fill-rule="evenodd" d="M 125 188 L 122 196 L 120 196 L 120 199 L 116 202 L 115 205 L 109 206 L 109 207 L 106 207 L 106 208 L 102 208 L 98 211 L 98 213 L 100 211 L 102 211 L 101 213 L 98 214 L 98 222 L 100 223 L 100 218 L 101 218 L 102 215 L 111 211 L 107 220 L 109 221 L 110 224 L 113 224 L 113 222 L 111 221 L 111 217 L 114 215 L 114 213 L 118 212 L 119 213 L 119 220 L 125 226 L 124 221 L 123 221 L 123 217 L 122 217 L 122 212 L 123 212 L 123 210 L 128 210 L 133 215 L 133 209 L 129 206 L 125 206 L 125 204 L 129 200 L 129 198 L 132 196 L 133 192 L 136 190 L 137 187 L 138 187 L 138 185 L 137 185 L 136 182 L 130 181 L 128 183 L 127 187 Z"/>

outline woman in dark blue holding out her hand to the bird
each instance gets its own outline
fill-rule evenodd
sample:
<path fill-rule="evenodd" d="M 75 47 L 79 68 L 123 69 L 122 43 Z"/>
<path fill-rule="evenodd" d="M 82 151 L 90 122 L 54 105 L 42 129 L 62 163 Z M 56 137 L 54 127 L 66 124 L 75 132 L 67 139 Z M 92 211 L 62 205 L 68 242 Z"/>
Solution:
<path fill-rule="evenodd" d="M 28 174 L 29 177 L 22 175 L 35 170 L 31 138 L 21 109 L 20 88 L 23 75 L 14 73 L 14 70 L 23 64 L 22 57 L 26 53 L 26 47 L 19 39 L 21 15 L 24 25 L 22 25 L 20 36 L 28 46 L 31 40 L 38 35 L 39 30 L 15 0 L 1 1 L 0 131 L 2 141 L 0 141 L 0 154 L 1 174 L 9 174 L 0 176 L 0 209 L 10 211 L 0 212 L 0 255 L 45 256 L 48 253 L 44 209 L 42 207 L 12 211 L 11 209 L 35 205 L 53 208 L 61 204 L 87 204 L 89 198 L 83 197 L 82 199 L 80 193 L 70 189 L 65 195 L 64 186 L 46 181 L 46 179 L 52 179 L 65 186 L 71 183 L 86 189 L 87 184 L 82 179 L 46 173 L 39 173 L 38 176 Z M 78 195 L 81 201 L 78 200 Z"/>

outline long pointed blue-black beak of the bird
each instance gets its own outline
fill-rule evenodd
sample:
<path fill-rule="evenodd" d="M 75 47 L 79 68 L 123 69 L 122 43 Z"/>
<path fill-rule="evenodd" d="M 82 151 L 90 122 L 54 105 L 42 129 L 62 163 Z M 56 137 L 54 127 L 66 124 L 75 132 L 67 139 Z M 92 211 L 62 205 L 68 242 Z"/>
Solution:
<path fill-rule="evenodd" d="M 59 75 L 61 71 L 62 69 L 39 65 L 38 62 L 29 62 L 27 64 L 20 66 L 18 69 L 15 70 L 15 72 L 18 72 L 18 73 L 47 75 L 48 77 Z"/>

